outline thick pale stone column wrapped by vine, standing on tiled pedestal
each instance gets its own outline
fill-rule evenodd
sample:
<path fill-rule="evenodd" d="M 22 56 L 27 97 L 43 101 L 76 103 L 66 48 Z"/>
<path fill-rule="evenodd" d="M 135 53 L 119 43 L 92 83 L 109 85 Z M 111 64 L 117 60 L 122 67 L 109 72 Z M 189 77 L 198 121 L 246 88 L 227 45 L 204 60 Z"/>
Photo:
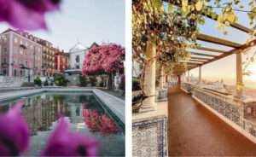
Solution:
<path fill-rule="evenodd" d="M 139 112 L 153 111 L 156 107 L 155 98 L 155 52 L 156 46 L 154 42 L 148 41 L 146 58 L 148 61 L 148 66 L 145 67 L 144 75 L 144 92 L 146 96 L 149 96 L 143 100 L 143 105 L 139 109 Z"/>

